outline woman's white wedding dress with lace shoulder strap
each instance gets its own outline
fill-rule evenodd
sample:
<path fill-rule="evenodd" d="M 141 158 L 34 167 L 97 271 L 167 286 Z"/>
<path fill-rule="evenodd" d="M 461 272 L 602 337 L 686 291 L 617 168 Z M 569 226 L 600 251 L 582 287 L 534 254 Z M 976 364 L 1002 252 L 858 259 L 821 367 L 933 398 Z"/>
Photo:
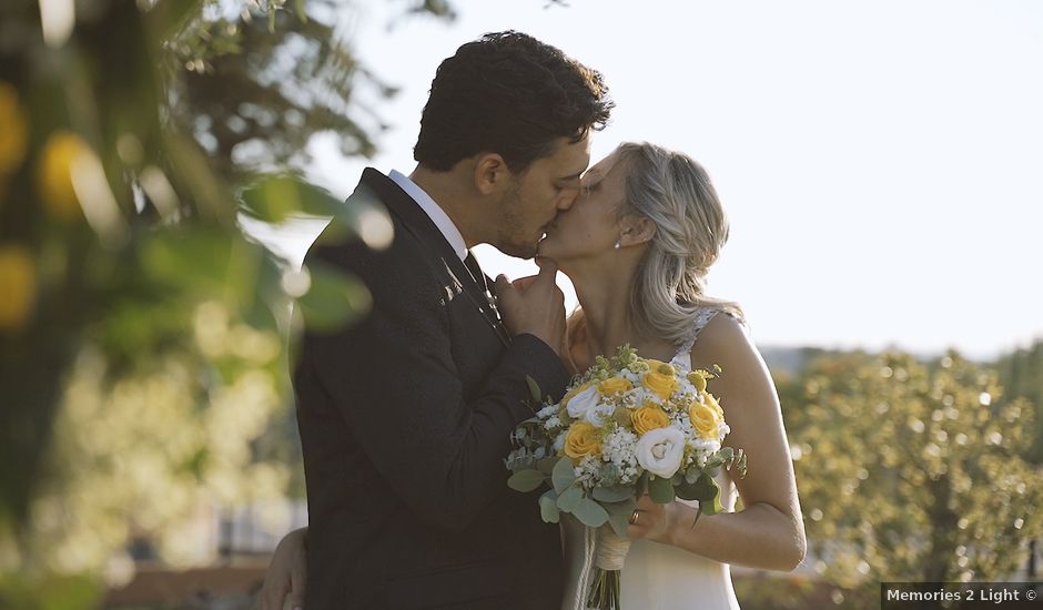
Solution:
<path fill-rule="evenodd" d="M 674 356 L 672 362 L 691 368 L 691 346 L 696 337 L 719 309 L 706 308 L 697 318 L 692 337 Z M 735 511 L 736 487 L 721 469 L 717 476 L 721 504 Z M 691 506 L 697 501 L 680 500 Z M 561 516 L 565 537 L 565 599 L 563 610 L 586 608 L 587 591 L 595 568 L 585 570 L 586 527 L 571 515 Z M 634 540 L 620 575 L 620 607 L 624 610 L 738 610 L 731 571 L 727 563 L 707 559 L 677 547 L 649 540 Z M 578 601 L 578 603 L 577 603 Z"/>

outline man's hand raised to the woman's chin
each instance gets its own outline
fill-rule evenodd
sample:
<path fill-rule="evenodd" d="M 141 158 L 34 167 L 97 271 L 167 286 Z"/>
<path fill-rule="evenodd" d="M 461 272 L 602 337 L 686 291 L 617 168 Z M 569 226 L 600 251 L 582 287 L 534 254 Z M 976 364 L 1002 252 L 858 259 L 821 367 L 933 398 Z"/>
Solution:
<path fill-rule="evenodd" d="M 565 345 L 565 295 L 554 281 L 557 272 L 554 262 L 541 260 L 535 276 L 512 284 L 500 275 L 496 278 L 496 298 L 510 334 L 534 335 L 560 356 Z"/>

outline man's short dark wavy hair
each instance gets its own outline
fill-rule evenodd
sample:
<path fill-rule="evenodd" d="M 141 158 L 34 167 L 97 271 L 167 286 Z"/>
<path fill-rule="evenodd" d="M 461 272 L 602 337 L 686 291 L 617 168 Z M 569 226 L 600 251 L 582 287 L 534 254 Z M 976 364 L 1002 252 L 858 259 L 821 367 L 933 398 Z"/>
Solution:
<path fill-rule="evenodd" d="M 522 32 L 485 34 L 438 67 L 414 159 L 448 171 L 494 152 L 524 172 L 559 138 L 604 129 L 612 105 L 600 72 Z"/>

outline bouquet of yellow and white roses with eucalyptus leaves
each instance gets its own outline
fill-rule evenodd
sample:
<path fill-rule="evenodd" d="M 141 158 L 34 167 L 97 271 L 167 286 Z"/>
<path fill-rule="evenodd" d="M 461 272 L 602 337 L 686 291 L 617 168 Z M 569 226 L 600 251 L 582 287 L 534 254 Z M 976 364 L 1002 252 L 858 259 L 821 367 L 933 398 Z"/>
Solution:
<path fill-rule="evenodd" d="M 596 572 L 586 606 L 619 608 L 619 570 L 637 498 L 699 500 L 698 519 L 722 510 L 713 479 L 720 468 L 746 475 L 742 450 L 721 446 L 728 424 L 706 390 L 715 376 L 641 358 L 624 346 L 611 358 L 598 356 L 559 403 L 541 400 L 529 379 L 540 408 L 512 435 L 507 485 L 533 491 L 549 482 L 539 497 L 544 521 L 558 522 L 566 512 L 596 529 Z"/>

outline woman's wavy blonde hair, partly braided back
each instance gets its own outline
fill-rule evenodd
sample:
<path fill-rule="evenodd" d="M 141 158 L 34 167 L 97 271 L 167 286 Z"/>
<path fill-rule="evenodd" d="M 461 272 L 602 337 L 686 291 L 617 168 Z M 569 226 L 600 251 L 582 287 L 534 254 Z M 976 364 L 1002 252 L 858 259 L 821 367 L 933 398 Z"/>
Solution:
<path fill-rule="evenodd" d="M 728 216 L 706 170 L 683 153 L 647 142 L 625 142 L 615 154 L 627 171 L 620 214 L 656 224 L 630 289 L 635 329 L 681 345 L 691 338 L 703 307 L 741 321 L 738 304 L 706 294 L 707 272 L 728 241 Z M 579 332 L 581 312 L 570 322 Z"/>

